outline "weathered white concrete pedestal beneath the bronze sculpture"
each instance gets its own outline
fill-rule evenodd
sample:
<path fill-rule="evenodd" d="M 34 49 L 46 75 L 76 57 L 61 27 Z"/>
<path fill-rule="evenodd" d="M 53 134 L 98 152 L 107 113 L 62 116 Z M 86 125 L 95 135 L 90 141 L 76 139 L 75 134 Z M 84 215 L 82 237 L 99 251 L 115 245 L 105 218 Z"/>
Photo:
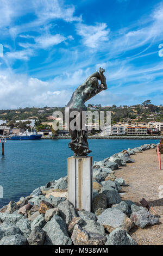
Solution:
<path fill-rule="evenodd" d="M 91 211 L 92 156 L 68 157 L 68 200 L 74 208 Z"/>

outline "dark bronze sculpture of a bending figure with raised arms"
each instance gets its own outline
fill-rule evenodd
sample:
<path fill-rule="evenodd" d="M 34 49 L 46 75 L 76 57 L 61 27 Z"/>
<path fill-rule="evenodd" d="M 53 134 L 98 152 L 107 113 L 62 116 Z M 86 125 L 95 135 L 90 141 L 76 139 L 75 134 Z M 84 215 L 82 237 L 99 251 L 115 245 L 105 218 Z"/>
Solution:
<path fill-rule="evenodd" d="M 70 114 L 72 111 L 77 111 L 80 118 L 80 127 L 79 129 L 72 130 L 69 127 L 71 142 L 68 144 L 68 147 L 74 151 L 74 156 L 87 156 L 91 153 L 89 150 L 89 145 L 87 143 L 87 135 L 84 127 L 82 127 L 82 112 L 86 111 L 86 106 L 84 103 L 91 99 L 91 97 L 102 92 L 102 90 L 107 89 L 106 78 L 104 76 L 105 70 L 99 68 L 99 72 L 93 73 L 89 76 L 83 84 L 81 84 L 72 94 L 71 100 L 68 102 L 67 107 L 69 108 Z M 98 84 L 98 80 L 101 81 L 101 84 Z M 74 119 L 74 117 L 69 118 L 69 124 Z"/>

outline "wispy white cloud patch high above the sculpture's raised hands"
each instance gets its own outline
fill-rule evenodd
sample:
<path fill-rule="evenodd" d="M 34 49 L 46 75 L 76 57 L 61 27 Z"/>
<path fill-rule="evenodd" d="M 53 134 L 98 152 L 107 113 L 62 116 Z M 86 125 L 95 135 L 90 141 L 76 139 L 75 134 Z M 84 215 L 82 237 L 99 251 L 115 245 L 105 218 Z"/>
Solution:
<path fill-rule="evenodd" d="M 87 26 L 82 23 L 77 24 L 77 34 L 83 38 L 83 44 L 87 47 L 97 48 L 103 42 L 109 40 L 109 32 L 106 23 L 96 23 L 95 26 Z"/>

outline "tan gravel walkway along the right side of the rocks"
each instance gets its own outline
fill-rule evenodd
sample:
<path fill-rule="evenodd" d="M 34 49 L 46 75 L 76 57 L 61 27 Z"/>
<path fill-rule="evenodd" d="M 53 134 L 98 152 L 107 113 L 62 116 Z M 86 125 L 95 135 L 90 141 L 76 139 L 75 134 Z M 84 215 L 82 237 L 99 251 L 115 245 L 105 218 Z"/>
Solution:
<path fill-rule="evenodd" d="M 145 229 L 134 227 L 129 234 L 139 245 L 163 245 L 163 198 L 159 198 L 161 185 L 163 196 L 163 155 L 161 155 L 162 170 L 159 170 L 155 149 L 131 155 L 131 158 L 135 163 L 127 163 L 116 171 L 116 176 L 122 177 L 127 184 L 122 187 L 123 192 L 126 192 L 122 199 L 130 199 L 140 205 L 139 201 L 144 197 L 157 212 L 160 223 Z M 150 211 L 154 214 L 152 210 Z"/>

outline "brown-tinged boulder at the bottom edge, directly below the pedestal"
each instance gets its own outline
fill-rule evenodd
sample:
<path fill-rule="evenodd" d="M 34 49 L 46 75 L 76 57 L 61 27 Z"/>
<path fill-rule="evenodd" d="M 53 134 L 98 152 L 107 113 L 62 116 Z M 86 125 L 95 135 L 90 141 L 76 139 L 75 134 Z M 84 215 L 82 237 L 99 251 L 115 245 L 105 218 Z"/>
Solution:
<path fill-rule="evenodd" d="M 106 238 L 98 234 L 93 234 L 75 225 L 71 239 L 74 245 L 104 245 Z"/>

